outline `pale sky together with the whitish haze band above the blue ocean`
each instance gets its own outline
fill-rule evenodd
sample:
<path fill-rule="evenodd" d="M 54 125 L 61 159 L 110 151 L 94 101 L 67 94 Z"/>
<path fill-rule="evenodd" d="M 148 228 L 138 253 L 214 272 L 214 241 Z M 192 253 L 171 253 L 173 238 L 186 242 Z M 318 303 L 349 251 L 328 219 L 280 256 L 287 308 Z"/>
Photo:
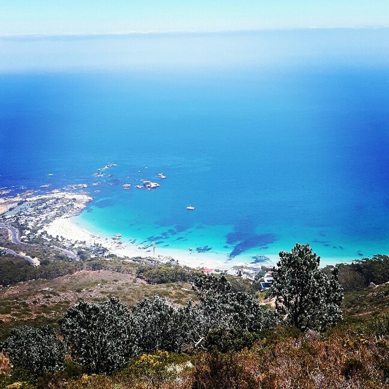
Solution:
<path fill-rule="evenodd" d="M 386 66 L 389 0 L 0 0 L 0 58 L 0 73 Z"/>

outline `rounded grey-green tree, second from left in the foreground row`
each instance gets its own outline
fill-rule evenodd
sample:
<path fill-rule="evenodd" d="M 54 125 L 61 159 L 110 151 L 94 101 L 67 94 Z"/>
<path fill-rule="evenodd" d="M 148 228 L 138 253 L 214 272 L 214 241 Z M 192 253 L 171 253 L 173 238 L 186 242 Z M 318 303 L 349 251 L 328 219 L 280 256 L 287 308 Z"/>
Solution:
<path fill-rule="evenodd" d="M 136 352 L 135 335 L 129 327 L 130 313 L 119 299 L 70 307 L 60 320 L 72 358 L 87 373 L 110 373 L 120 369 Z"/>

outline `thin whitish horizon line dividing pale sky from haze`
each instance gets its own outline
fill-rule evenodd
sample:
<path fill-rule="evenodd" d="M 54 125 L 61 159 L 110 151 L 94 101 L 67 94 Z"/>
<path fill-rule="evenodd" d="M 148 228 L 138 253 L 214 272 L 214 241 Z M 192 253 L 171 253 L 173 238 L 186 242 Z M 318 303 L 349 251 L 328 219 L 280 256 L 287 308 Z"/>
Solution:
<path fill-rule="evenodd" d="M 202 34 L 229 34 L 229 33 L 249 33 L 266 31 L 298 31 L 298 30 L 377 30 L 387 29 L 389 25 L 377 26 L 308 26 L 308 27 L 278 27 L 278 28 L 257 28 L 257 29 L 234 29 L 234 30 L 145 30 L 145 31 L 116 31 L 116 32 L 62 32 L 62 33 L 0 33 L 0 38 L 50 38 L 50 37 L 104 37 L 104 36 L 126 36 L 126 35 L 202 35 Z"/>

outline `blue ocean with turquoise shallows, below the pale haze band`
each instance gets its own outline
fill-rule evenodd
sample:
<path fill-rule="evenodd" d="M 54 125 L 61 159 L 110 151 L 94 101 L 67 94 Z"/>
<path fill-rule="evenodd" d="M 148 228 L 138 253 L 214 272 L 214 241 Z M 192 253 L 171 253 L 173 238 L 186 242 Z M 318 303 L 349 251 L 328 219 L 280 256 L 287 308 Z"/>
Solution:
<path fill-rule="evenodd" d="M 3 71 L 0 187 L 86 183 L 77 223 L 138 246 L 236 262 L 296 242 L 323 263 L 389 254 L 389 63 L 313 55 Z"/>

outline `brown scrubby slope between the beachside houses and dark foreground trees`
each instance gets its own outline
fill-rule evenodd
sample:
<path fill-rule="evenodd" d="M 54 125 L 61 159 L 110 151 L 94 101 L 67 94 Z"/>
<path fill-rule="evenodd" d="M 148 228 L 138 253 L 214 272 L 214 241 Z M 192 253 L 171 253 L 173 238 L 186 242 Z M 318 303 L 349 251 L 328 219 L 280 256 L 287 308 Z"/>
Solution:
<path fill-rule="evenodd" d="M 189 284 L 150 285 L 129 273 L 81 270 L 53 280 L 20 282 L 0 289 L 0 320 L 5 324 L 38 317 L 56 320 L 81 300 L 96 302 L 114 296 L 131 306 L 155 295 L 177 304 L 195 297 Z"/>

